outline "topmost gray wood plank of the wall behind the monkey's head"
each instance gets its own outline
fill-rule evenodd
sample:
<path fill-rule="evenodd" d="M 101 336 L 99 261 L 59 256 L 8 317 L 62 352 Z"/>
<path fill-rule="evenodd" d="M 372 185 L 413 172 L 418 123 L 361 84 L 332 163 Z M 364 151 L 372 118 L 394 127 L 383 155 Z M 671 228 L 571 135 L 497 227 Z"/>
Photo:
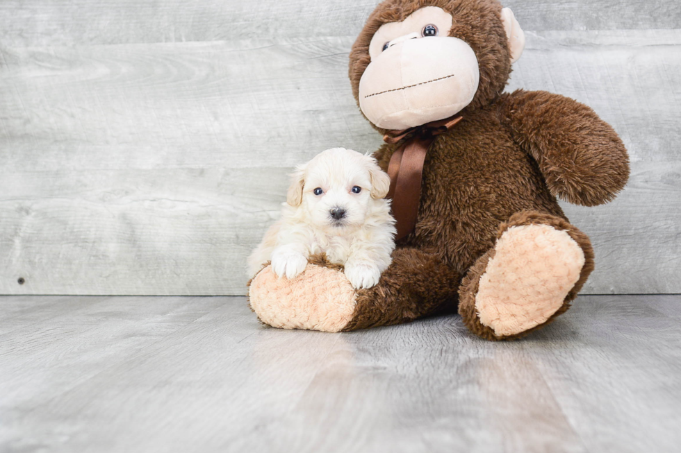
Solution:
<path fill-rule="evenodd" d="M 0 42 L 71 46 L 356 36 L 379 0 L 3 0 Z M 525 30 L 680 28 L 674 0 L 505 0 Z"/>

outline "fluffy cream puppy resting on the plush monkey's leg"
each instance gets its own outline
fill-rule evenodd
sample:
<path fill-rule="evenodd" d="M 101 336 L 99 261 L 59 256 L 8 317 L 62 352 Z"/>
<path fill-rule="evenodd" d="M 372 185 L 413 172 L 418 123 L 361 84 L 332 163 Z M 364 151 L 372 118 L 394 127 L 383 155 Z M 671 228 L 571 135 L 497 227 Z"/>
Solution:
<path fill-rule="evenodd" d="M 373 157 L 332 148 L 298 166 L 281 210 L 248 259 L 249 276 L 271 262 L 279 277 L 295 278 L 310 255 L 325 253 L 345 266 L 355 289 L 377 284 L 391 264 L 395 219 L 384 199 L 390 178 Z"/>

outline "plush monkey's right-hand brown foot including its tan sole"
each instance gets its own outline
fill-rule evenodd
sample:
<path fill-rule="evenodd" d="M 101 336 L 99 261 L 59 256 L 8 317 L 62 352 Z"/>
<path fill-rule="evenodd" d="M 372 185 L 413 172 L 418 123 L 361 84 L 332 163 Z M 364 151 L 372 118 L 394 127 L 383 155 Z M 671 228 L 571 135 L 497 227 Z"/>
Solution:
<path fill-rule="evenodd" d="M 461 282 L 459 314 L 484 339 L 516 339 L 564 313 L 591 271 L 586 234 L 557 216 L 518 212 Z"/>

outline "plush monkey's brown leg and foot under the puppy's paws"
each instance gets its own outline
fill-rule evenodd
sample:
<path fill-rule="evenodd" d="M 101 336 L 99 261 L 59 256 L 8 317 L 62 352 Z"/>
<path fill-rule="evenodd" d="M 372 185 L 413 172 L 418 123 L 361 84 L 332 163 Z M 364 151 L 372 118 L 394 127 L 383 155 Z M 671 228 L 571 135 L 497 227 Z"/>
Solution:
<path fill-rule="evenodd" d="M 250 284 L 249 300 L 273 327 L 347 332 L 453 310 L 460 280 L 434 255 L 398 248 L 375 287 L 355 290 L 340 266 L 313 260 L 293 280 L 265 267 Z"/>

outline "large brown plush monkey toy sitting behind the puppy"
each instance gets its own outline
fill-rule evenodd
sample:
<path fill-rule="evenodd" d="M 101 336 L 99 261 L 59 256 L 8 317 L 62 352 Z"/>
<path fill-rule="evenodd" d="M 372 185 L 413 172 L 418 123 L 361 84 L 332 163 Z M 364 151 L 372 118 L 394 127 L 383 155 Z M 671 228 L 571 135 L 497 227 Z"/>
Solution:
<path fill-rule="evenodd" d="M 496 0 L 386 0 L 372 12 L 352 46 L 350 80 L 364 116 L 394 138 L 375 153 L 381 168 L 410 131 L 458 123 L 423 142 L 415 225 L 379 283 L 354 290 L 323 257 L 294 280 L 265 267 L 249 284 L 263 323 L 341 332 L 458 307 L 471 332 L 502 340 L 568 309 L 593 270 L 593 250 L 556 197 L 607 203 L 627 182 L 629 162 L 586 105 L 502 93 L 524 44 Z M 395 194 L 393 211 L 400 203 Z"/>

